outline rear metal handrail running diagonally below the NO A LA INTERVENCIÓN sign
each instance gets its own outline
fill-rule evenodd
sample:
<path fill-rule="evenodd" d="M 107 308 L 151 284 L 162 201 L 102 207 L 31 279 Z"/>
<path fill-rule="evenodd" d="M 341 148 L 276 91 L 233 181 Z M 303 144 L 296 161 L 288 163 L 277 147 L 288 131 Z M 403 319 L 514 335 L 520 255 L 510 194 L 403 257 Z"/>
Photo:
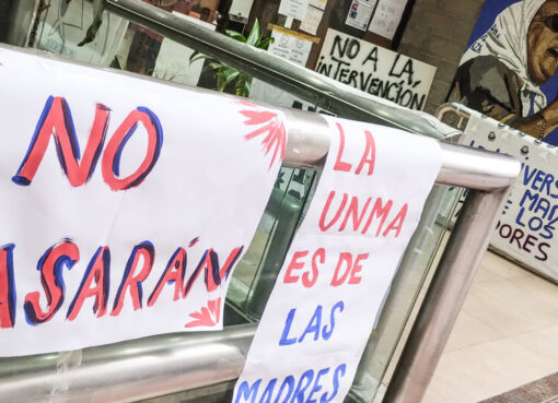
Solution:
<path fill-rule="evenodd" d="M 364 92 L 207 29 L 141 0 L 105 0 L 105 7 L 106 10 L 119 16 L 345 118 L 392 126 L 437 139 L 442 138 L 427 119 L 409 110 L 402 112 L 400 107 L 379 102 L 377 98 Z"/>

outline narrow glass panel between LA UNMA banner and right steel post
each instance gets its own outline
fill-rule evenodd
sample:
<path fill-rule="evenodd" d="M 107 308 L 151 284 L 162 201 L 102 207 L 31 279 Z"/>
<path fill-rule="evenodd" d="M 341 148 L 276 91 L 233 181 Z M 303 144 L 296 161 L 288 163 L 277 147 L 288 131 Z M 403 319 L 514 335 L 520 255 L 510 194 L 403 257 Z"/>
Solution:
<path fill-rule="evenodd" d="M 429 283 L 443 252 L 444 235 L 460 194 L 460 188 L 437 185 L 427 200 L 361 358 L 351 390 L 358 402 L 372 402 L 382 389 L 395 349 L 405 336 L 404 329 L 408 322 L 412 323 L 412 313 L 416 315 L 412 310 L 420 304 L 423 285 Z"/>

